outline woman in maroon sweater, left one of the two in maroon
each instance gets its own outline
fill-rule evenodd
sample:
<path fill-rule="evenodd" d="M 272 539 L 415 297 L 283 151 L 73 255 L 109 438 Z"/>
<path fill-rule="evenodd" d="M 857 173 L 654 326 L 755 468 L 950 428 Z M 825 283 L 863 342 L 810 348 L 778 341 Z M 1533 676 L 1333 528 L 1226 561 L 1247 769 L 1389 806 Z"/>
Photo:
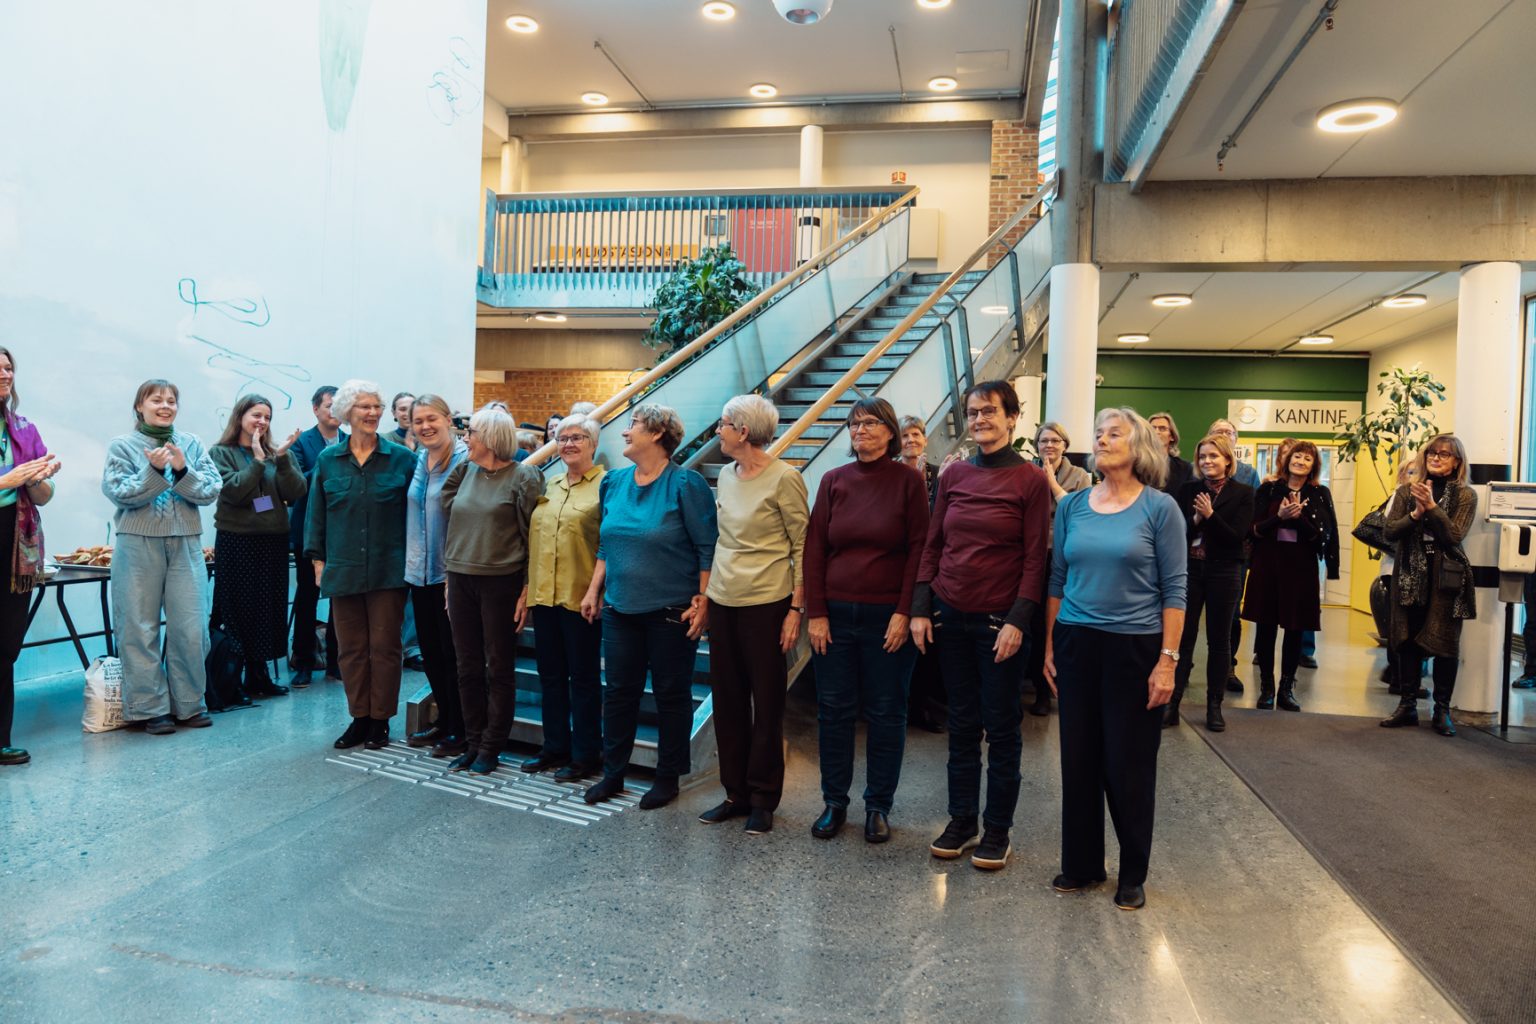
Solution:
<path fill-rule="evenodd" d="M 857 462 L 822 477 L 805 536 L 805 603 L 816 665 L 822 798 L 811 835 L 829 840 L 848 818 L 854 722 L 865 745 L 865 840 L 891 838 L 891 803 L 906 745 L 906 688 L 917 648 L 906 642 L 917 560 L 928 536 L 923 477 L 895 462 L 895 410 L 883 398 L 854 402 L 848 438 Z"/>

